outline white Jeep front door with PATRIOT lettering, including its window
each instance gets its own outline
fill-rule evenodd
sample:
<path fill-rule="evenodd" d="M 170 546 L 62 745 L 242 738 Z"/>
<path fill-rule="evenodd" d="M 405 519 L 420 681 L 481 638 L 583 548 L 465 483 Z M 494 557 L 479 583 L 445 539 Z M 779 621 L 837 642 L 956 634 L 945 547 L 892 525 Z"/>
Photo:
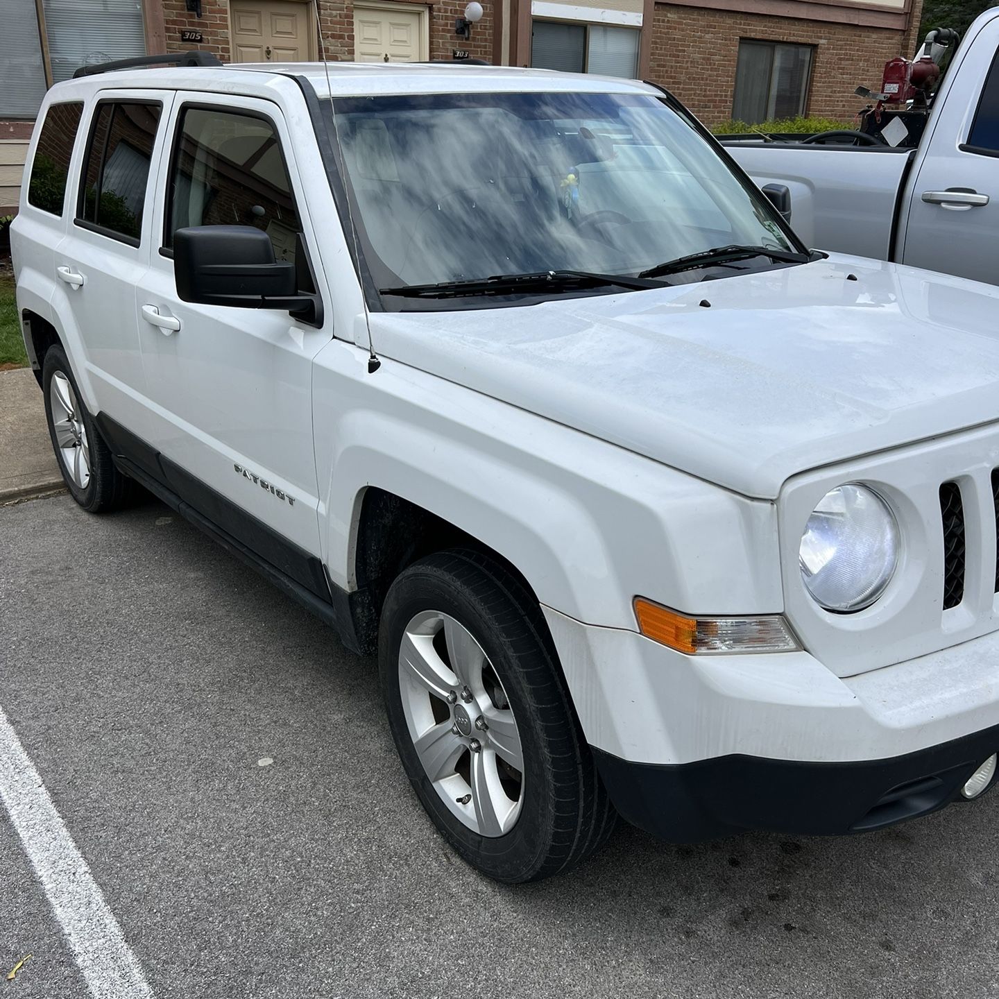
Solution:
<path fill-rule="evenodd" d="M 249 547 L 267 557 L 278 535 L 318 555 L 312 359 L 332 334 L 286 311 L 181 302 L 174 278 L 177 229 L 255 226 L 287 261 L 302 233 L 329 305 L 284 116 L 270 101 L 180 93 L 169 130 L 154 210 L 159 247 L 136 303 L 147 443 L 166 459 L 171 487 Z M 316 588 L 311 577 L 299 581 Z"/>

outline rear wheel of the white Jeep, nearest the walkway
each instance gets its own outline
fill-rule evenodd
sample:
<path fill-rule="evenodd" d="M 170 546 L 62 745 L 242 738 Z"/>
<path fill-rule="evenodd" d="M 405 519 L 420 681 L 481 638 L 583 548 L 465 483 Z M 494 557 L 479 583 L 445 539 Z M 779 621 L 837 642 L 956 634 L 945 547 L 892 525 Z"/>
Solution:
<path fill-rule="evenodd" d="M 70 495 L 92 513 L 121 506 L 129 498 L 130 481 L 115 468 L 61 347 L 45 352 L 42 392 L 52 449 Z"/>

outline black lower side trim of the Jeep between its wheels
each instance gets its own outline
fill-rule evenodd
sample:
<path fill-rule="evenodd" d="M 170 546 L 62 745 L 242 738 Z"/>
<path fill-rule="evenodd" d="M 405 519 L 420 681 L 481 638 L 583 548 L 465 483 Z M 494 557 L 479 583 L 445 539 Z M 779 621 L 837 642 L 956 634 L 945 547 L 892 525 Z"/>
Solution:
<path fill-rule="evenodd" d="M 372 652 L 356 626 L 357 614 L 367 611 L 367 593 L 348 592 L 331 583 L 319 558 L 185 472 L 111 417 L 99 414 L 97 426 L 124 475 L 322 617 L 352 652 Z"/>

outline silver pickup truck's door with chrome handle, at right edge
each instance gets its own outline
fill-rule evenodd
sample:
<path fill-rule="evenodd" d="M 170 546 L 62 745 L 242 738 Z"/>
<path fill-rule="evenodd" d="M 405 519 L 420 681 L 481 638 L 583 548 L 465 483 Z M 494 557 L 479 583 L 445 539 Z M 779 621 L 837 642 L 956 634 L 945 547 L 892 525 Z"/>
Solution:
<path fill-rule="evenodd" d="M 908 185 L 899 261 L 999 283 L 999 19 L 969 40 Z M 991 64 L 990 64 L 991 63 Z"/>

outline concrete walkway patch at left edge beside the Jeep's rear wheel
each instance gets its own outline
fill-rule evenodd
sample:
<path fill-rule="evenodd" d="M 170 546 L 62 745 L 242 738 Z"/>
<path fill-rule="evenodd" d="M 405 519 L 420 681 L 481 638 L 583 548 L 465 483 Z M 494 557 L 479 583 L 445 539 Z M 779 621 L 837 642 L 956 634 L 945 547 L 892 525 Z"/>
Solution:
<path fill-rule="evenodd" d="M 30 368 L 0 372 L 0 505 L 65 489 Z"/>

